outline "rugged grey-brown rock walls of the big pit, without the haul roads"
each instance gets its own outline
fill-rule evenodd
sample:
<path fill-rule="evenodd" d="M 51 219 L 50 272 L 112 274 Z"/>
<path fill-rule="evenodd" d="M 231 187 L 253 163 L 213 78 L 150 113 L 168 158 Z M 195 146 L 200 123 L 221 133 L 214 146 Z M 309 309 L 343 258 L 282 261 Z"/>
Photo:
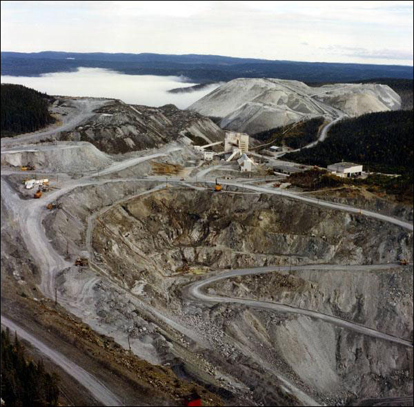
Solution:
<path fill-rule="evenodd" d="M 168 188 L 109 206 L 130 196 L 131 190 L 154 186 L 110 182 L 77 188 L 59 200 L 63 209 L 52 211 L 45 220 L 48 237 L 59 252 L 66 251 L 67 242 L 70 253 L 89 250 L 95 267 L 123 287 L 114 289 L 74 267 L 59 275 L 59 292 L 73 302 L 88 304 L 84 312 L 93 328 L 110 329 L 119 343 L 128 333 L 135 352 L 152 363 L 170 363 L 187 372 L 207 369 L 211 380 L 222 373 L 231 375 L 253 389 L 249 397 L 264 405 L 297 404 L 288 400 L 289 392 L 278 382 L 280 372 L 326 405 L 343 405 L 342 400 L 355 393 L 390 395 L 387 381 L 394 390 L 409 393 L 407 361 L 412 356 L 405 349 L 304 316 L 234 304 L 188 303 L 181 289 L 210 269 L 411 259 L 411 233 L 275 196 Z M 99 208 L 103 212 L 92 215 Z M 95 218 L 93 229 L 87 227 L 92 226 L 91 216 Z M 286 281 L 284 275 L 279 280 L 272 276 L 264 284 L 252 278 L 246 284 L 235 280 L 236 284 L 225 282 L 214 289 L 243 296 L 239 291 L 244 286 L 246 293 L 254 292 L 264 300 L 297 304 L 302 299 L 299 306 L 390 333 L 403 329 L 410 335 L 412 291 L 408 293 L 404 287 L 410 286 L 407 279 L 412 279 L 412 273 L 403 274 L 309 271 L 288 276 Z M 138 311 L 142 305 L 137 307 L 135 300 L 188 327 L 197 340 L 209 346 L 195 351 L 198 348 L 191 341 L 166 337 Z M 358 369 L 365 374 L 356 375 Z"/>

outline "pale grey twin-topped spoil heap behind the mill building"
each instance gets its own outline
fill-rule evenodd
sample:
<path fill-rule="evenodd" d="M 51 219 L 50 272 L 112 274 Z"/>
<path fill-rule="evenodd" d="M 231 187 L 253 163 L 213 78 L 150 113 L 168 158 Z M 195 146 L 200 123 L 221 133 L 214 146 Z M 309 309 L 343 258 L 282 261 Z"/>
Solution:
<path fill-rule="evenodd" d="M 219 118 L 219 125 L 254 134 L 302 118 L 332 118 L 339 109 L 348 116 L 399 109 L 401 98 L 391 87 L 373 83 L 335 83 L 309 87 L 282 79 L 234 79 L 188 109 Z"/>

